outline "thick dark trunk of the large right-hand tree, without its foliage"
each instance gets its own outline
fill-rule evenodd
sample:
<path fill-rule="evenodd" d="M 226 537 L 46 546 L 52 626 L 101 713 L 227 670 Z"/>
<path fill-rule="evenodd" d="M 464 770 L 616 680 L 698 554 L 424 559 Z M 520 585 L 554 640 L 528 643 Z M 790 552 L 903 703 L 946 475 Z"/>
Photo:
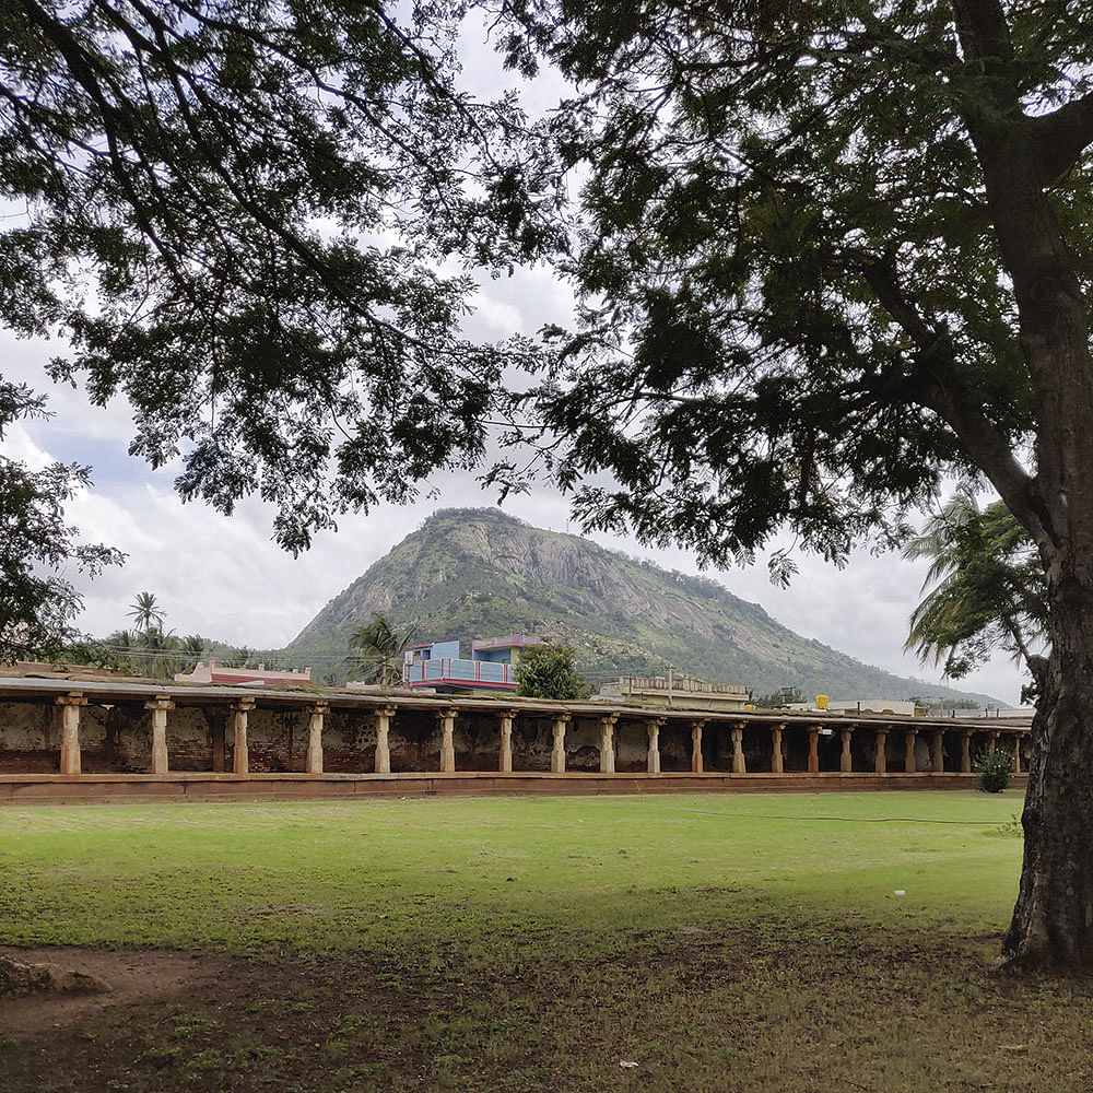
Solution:
<path fill-rule="evenodd" d="M 953 0 L 953 13 L 965 59 L 983 78 L 984 97 L 967 101 L 965 121 L 1013 281 L 1036 423 L 1026 487 L 1014 487 L 1004 460 L 979 466 L 1039 546 L 1051 639 L 1004 949 L 1019 966 L 1077 972 L 1093 965 L 1093 366 L 1074 251 L 1046 183 L 1093 141 L 1093 110 L 1083 101 L 1054 120 L 1026 117 L 1001 0 Z"/>

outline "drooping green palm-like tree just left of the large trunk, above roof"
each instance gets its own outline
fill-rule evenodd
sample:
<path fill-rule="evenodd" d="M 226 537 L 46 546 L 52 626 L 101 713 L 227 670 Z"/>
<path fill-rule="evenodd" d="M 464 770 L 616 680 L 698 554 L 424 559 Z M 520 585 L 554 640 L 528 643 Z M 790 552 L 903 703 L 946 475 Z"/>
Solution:
<path fill-rule="evenodd" d="M 957 493 L 903 555 L 930 559 L 922 589 L 935 586 L 910 616 L 908 649 L 943 661 L 944 674 L 960 679 L 1002 648 L 1038 678 L 1047 663 L 1038 651 L 1047 628 L 1044 571 L 1031 536 L 1001 502 L 980 513 L 974 497 Z"/>

